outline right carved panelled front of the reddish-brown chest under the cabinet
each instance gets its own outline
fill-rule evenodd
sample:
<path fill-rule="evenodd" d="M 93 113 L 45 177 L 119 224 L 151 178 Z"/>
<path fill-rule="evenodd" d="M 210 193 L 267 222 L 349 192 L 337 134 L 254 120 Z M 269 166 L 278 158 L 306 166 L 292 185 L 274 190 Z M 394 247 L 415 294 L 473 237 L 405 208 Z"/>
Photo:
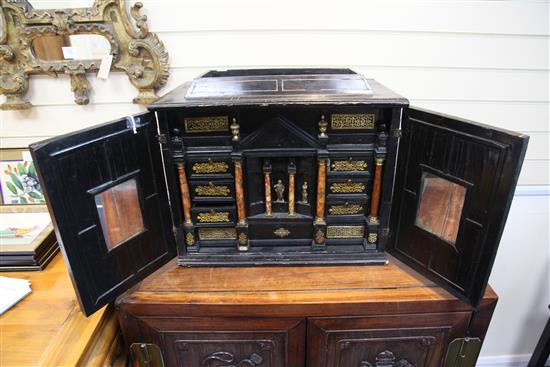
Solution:
<path fill-rule="evenodd" d="M 308 366 L 440 366 L 469 318 L 456 312 L 309 319 Z"/>

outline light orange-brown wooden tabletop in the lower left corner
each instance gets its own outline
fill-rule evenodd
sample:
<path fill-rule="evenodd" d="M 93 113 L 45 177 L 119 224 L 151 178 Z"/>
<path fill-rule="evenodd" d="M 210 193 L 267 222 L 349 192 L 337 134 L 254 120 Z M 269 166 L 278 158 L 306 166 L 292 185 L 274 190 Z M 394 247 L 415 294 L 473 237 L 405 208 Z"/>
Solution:
<path fill-rule="evenodd" d="M 111 307 L 86 318 L 57 255 L 41 272 L 3 272 L 28 279 L 32 293 L 0 316 L 0 366 L 89 365 L 110 353 L 118 324 Z M 93 364 L 93 363 L 92 363 Z"/>

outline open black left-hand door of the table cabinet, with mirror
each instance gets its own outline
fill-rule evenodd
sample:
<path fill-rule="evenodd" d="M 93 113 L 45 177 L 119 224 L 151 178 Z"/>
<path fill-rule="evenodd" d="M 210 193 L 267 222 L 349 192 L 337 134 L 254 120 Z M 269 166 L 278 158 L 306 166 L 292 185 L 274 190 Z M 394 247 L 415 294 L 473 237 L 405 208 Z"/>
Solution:
<path fill-rule="evenodd" d="M 155 133 L 146 113 L 30 147 L 86 315 L 175 256 Z"/>

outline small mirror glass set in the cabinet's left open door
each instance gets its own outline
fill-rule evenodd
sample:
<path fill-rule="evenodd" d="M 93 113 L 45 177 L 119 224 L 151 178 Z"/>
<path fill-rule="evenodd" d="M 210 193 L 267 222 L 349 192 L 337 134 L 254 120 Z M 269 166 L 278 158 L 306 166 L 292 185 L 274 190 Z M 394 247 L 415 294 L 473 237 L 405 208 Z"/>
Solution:
<path fill-rule="evenodd" d="M 95 204 L 109 250 L 144 230 L 136 179 L 97 194 Z"/>

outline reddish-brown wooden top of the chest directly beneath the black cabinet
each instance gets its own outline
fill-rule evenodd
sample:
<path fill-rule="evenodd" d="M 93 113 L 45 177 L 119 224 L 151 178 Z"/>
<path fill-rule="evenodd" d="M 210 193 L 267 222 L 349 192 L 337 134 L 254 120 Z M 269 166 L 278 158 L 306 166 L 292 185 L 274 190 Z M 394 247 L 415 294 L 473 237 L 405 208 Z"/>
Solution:
<path fill-rule="evenodd" d="M 488 287 L 484 303 L 495 302 Z M 135 315 L 365 315 L 472 307 L 395 258 L 379 266 L 185 268 L 166 264 L 118 300 Z"/>

